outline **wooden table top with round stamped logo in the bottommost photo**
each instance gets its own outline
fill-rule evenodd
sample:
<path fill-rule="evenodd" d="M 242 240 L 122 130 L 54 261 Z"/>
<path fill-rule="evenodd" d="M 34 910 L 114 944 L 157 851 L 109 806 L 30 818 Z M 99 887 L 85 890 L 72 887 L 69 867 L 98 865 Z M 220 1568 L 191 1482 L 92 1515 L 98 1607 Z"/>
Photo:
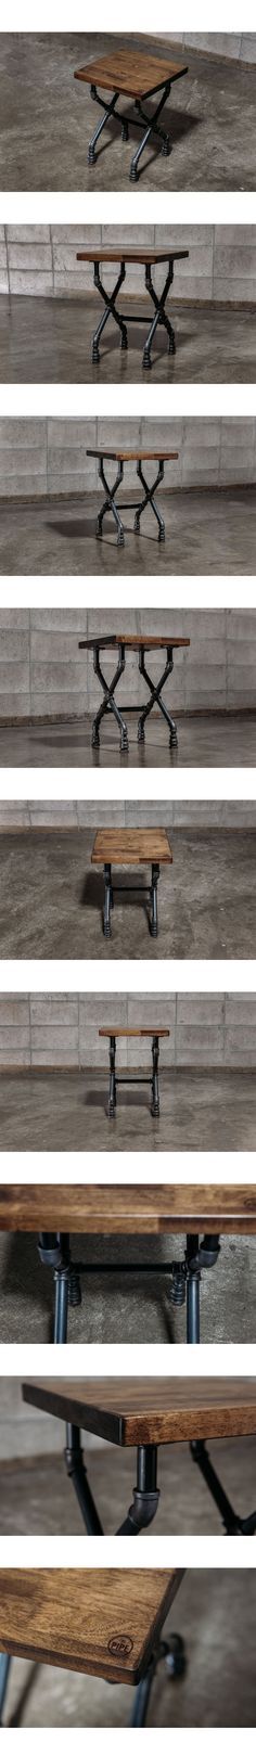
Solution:
<path fill-rule="evenodd" d="M 135 1683 L 181 1578 L 153 1567 L 2 1567 L 0 1650 Z"/>

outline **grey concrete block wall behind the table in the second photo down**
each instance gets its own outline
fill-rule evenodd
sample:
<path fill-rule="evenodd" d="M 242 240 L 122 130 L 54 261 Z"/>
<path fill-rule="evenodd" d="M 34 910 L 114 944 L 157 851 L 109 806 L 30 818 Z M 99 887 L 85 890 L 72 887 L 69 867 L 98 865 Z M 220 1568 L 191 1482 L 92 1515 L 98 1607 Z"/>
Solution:
<path fill-rule="evenodd" d="M 172 298 L 252 304 L 256 300 L 256 226 L 254 225 L 2 225 L 0 293 L 47 298 L 93 293 L 93 263 L 75 261 L 79 249 L 189 249 L 174 270 Z M 116 265 L 103 265 L 103 281 L 116 281 Z M 158 286 L 165 265 L 154 269 Z M 126 269 L 124 297 L 144 293 L 144 269 Z"/>

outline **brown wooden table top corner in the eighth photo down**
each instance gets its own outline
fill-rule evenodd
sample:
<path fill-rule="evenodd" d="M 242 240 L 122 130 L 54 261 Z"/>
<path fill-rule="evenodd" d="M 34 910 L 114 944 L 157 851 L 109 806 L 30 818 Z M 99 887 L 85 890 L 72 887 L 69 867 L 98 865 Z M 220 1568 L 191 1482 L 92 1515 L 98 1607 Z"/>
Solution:
<path fill-rule="evenodd" d="M 23 1400 L 121 1446 L 256 1432 L 256 1378 L 37 1378 Z"/>

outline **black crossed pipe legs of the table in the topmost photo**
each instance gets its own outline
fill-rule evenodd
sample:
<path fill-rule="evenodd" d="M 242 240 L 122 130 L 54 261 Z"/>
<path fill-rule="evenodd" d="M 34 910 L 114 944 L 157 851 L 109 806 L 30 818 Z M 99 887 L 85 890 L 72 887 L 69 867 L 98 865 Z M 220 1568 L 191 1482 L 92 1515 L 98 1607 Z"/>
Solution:
<path fill-rule="evenodd" d="M 182 72 L 184 72 L 184 68 L 182 68 Z M 135 98 L 132 116 L 124 116 L 124 114 L 121 114 L 116 109 L 117 98 L 119 98 L 119 91 L 114 91 L 114 95 L 110 98 L 110 104 L 105 104 L 105 98 L 100 98 L 96 86 L 95 84 L 89 86 L 91 98 L 93 98 L 95 104 L 100 104 L 100 109 L 103 109 L 103 116 L 102 116 L 102 121 L 98 123 L 98 128 L 95 128 L 95 133 L 91 135 L 89 149 L 88 149 L 88 163 L 95 165 L 95 156 L 96 156 L 95 154 L 95 146 L 100 140 L 100 135 L 103 133 L 105 123 L 112 116 L 114 116 L 116 121 L 119 121 L 121 139 L 123 140 L 128 140 L 130 123 L 135 123 L 137 128 L 144 130 L 144 139 L 140 140 L 140 146 L 137 147 L 137 153 L 133 153 L 133 158 L 132 158 L 132 163 L 130 163 L 130 181 L 132 183 L 137 183 L 137 179 L 139 179 L 139 161 L 142 158 L 144 147 L 147 146 L 147 140 L 151 139 L 151 133 L 156 135 L 158 140 L 161 140 L 161 153 L 163 153 L 165 158 L 168 158 L 168 153 L 172 153 L 170 135 L 163 128 L 160 128 L 158 123 L 160 123 L 160 116 L 161 116 L 163 105 L 167 104 L 167 98 L 170 97 L 170 86 L 172 86 L 172 79 L 167 79 L 165 86 L 161 86 L 161 97 L 160 97 L 160 102 L 156 104 L 154 116 L 147 116 L 146 114 L 146 111 L 142 109 L 140 98 Z M 160 86 L 154 86 L 153 91 L 147 93 L 147 97 L 151 98 L 158 91 L 160 91 Z"/>

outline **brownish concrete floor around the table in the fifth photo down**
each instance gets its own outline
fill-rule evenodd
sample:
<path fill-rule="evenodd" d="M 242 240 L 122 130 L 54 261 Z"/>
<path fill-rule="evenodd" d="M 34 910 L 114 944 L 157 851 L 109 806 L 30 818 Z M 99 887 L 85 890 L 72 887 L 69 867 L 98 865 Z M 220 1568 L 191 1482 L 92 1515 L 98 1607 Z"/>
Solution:
<path fill-rule="evenodd" d="M 174 865 L 160 872 L 158 939 L 137 892 L 133 902 L 116 897 L 112 937 L 103 939 L 95 828 L 0 837 L 0 958 L 256 956 L 256 830 L 170 830 Z M 116 870 L 117 883 L 133 888 L 149 876 L 147 867 Z"/>

